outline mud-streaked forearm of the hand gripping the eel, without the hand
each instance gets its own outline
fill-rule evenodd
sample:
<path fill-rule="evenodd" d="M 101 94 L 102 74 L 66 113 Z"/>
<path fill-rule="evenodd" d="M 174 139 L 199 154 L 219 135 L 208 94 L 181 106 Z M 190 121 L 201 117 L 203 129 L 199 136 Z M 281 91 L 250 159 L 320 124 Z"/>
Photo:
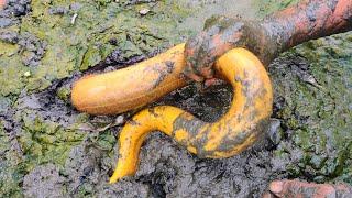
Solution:
<path fill-rule="evenodd" d="M 264 19 L 278 52 L 309 40 L 352 30 L 352 0 L 305 0 Z M 275 42 L 275 41 L 273 41 Z"/>

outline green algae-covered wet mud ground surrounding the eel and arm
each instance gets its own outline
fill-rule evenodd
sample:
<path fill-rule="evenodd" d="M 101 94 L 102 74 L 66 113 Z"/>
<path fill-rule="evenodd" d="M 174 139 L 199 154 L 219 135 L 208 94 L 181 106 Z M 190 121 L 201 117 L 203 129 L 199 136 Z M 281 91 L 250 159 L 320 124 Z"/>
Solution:
<path fill-rule="evenodd" d="M 153 134 L 136 176 L 109 185 L 120 128 L 135 111 L 92 117 L 69 101 L 80 76 L 184 42 L 211 14 L 255 19 L 296 2 L 8 0 L 0 11 L 1 197 L 257 197 L 277 178 L 352 185 L 351 33 L 302 44 L 270 66 L 271 130 L 231 158 L 199 160 Z M 157 103 L 213 121 L 230 92 L 221 82 L 205 92 L 189 86 Z"/>

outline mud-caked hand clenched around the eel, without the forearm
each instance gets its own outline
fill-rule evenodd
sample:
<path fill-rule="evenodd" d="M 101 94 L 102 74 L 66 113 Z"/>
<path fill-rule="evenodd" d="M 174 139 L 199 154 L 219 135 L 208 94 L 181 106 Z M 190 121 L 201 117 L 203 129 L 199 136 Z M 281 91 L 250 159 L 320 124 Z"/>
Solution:
<path fill-rule="evenodd" d="M 205 30 L 186 43 L 186 69 L 184 74 L 198 82 L 212 79 L 215 77 L 213 64 L 216 59 L 229 50 L 246 47 L 251 52 L 255 52 L 254 48 L 261 51 L 256 46 L 266 46 L 265 41 L 262 40 L 265 37 L 262 30 L 254 21 L 243 21 L 222 15 L 208 19 Z"/>

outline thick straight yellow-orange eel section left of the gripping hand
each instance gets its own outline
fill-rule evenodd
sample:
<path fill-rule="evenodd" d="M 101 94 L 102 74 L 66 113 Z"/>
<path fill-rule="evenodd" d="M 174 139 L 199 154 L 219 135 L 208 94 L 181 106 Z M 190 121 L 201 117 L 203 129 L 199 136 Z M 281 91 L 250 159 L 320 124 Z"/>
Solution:
<path fill-rule="evenodd" d="M 184 47 L 179 44 L 133 66 L 79 79 L 73 87 L 73 105 L 90 114 L 117 114 L 184 87 Z"/>

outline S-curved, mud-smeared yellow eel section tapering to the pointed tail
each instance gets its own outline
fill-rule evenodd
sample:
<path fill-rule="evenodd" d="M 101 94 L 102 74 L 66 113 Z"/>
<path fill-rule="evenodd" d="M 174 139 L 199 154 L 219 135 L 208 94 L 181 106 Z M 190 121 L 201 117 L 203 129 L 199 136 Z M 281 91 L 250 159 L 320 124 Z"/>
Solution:
<path fill-rule="evenodd" d="M 217 61 L 216 70 L 234 89 L 229 112 L 215 123 L 169 106 L 139 112 L 121 131 L 119 161 L 110 183 L 135 173 L 141 145 L 153 131 L 162 131 L 190 153 L 210 158 L 233 156 L 258 139 L 273 106 L 272 85 L 264 66 L 251 52 L 234 48 Z"/>

